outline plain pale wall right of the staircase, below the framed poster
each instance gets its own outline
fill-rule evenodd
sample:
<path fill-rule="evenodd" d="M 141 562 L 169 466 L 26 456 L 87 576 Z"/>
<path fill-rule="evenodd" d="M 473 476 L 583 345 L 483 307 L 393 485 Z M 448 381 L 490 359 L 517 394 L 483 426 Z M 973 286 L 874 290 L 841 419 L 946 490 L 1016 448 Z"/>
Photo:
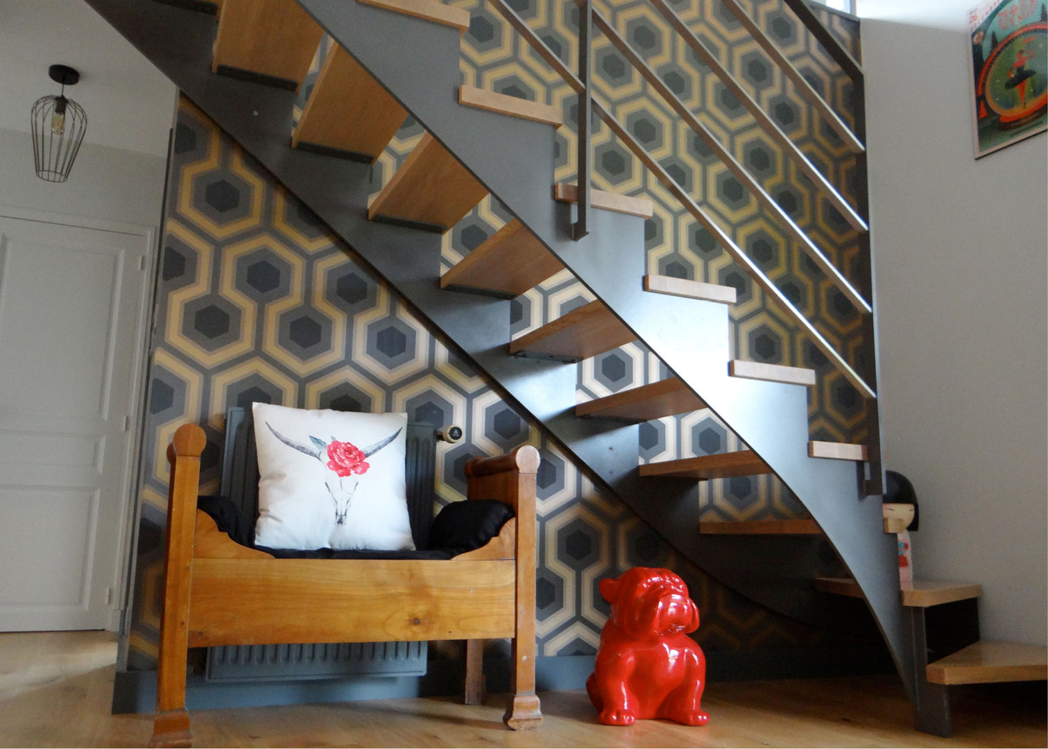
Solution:
<path fill-rule="evenodd" d="M 861 0 L 886 465 L 917 577 L 982 583 L 984 639 L 1046 642 L 1048 137 L 973 156 L 965 10 Z"/>

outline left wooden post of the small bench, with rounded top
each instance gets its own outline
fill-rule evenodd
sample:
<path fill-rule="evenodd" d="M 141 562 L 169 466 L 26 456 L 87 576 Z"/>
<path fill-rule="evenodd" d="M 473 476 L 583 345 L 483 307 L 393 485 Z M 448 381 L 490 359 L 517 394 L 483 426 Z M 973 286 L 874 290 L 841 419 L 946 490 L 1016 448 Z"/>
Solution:
<path fill-rule="evenodd" d="M 185 710 L 185 653 L 189 644 L 190 567 L 200 483 L 200 454 L 208 440 L 196 424 L 175 432 L 168 449 L 171 485 L 168 492 L 168 544 L 163 567 L 163 614 L 156 668 L 156 717 L 153 747 L 193 745 Z"/>

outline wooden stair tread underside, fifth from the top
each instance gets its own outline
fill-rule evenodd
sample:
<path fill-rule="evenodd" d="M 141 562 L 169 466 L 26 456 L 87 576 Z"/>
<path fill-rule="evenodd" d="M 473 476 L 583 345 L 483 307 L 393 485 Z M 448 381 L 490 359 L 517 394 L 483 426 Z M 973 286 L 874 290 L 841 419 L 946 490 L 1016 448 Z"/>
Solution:
<path fill-rule="evenodd" d="M 590 302 L 511 340 L 509 353 L 578 361 L 633 340 L 636 336 L 603 302 Z"/>

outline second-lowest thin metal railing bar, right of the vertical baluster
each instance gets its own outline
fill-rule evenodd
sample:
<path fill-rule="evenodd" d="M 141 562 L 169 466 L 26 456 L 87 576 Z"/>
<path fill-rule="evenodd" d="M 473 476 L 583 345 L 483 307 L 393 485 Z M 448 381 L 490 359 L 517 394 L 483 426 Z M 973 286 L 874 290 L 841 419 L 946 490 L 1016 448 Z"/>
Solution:
<path fill-rule="evenodd" d="M 776 202 L 774 198 L 768 195 L 767 191 L 761 186 L 761 184 L 754 179 L 754 177 L 746 171 L 746 169 L 739 163 L 738 159 L 732 154 L 730 151 L 725 149 L 720 140 L 709 132 L 699 119 L 692 114 L 683 102 L 670 90 L 670 87 L 662 83 L 662 80 L 658 74 L 651 68 L 648 63 L 640 58 L 639 54 L 623 39 L 618 31 L 608 22 L 608 20 L 593 10 L 593 22 L 596 24 L 597 28 L 608 38 L 608 40 L 623 53 L 624 57 L 635 67 L 640 74 L 651 84 L 662 98 L 673 108 L 684 123 L 698 135 L 702 140 L 709 147 L 714 154 L 732 171 L 732 173 L 741 181 L 750 193 L 752 193 L 758 201 L 764 205 L 769 212 L 771 212 L 782 223 L 784 223 L 788 229 L 790 236 L 801 243 L 804 251 L 811 258 L 812 262 L 820 267 L 820 269 L 826 273 L 827 278 L 833 282 L 840 292 L 848 298 L 848 300 L 855 305 L 861 312 L 869 313 L 872 311 L 870 304 L 863 298 L 863 294 L 858 292 L 851 282 L 844 277 L 844 274 L 830 262 L 818 246 L 811 241 L 811 238 L 804 233 L 804 230 L 796 225 L 796 223 L 789 217 L 789 215 L 783 211 L 782 206 Z"/>

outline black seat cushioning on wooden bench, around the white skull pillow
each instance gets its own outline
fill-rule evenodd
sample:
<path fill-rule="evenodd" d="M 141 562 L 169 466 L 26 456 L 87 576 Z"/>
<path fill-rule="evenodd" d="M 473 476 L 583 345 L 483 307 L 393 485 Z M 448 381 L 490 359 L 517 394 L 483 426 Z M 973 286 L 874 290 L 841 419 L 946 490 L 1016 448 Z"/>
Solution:
<path fill-rule="evenodd" d="M 453 502 L 437 513 L 430 529 L 430 548 L 416 551 L 269 549 L 255 546 L 255 523 L 227 497 L 198 497 L 197 507 L 206 512 L 223 533 L 250 549 L 281 559 L 451 559 L 479 549 L 499 534 L 514 516 L 512 508 L 498 500 Z"/>

